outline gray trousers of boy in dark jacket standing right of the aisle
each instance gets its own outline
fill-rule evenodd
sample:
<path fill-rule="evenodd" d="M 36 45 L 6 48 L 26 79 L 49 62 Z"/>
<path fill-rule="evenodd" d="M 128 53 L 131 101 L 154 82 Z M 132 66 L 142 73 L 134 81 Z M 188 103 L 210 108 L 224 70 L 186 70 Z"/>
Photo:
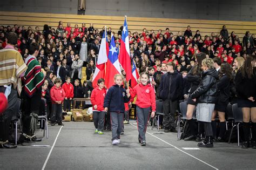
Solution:
<path fill-rule="evenodd" d="M 175 112 L 177 109 L 178 101 L 172 101 L 170 99 L 166 99 L 163 101 L 164 108 L 164 128 L 170 129 L 175 127 Z"/>

